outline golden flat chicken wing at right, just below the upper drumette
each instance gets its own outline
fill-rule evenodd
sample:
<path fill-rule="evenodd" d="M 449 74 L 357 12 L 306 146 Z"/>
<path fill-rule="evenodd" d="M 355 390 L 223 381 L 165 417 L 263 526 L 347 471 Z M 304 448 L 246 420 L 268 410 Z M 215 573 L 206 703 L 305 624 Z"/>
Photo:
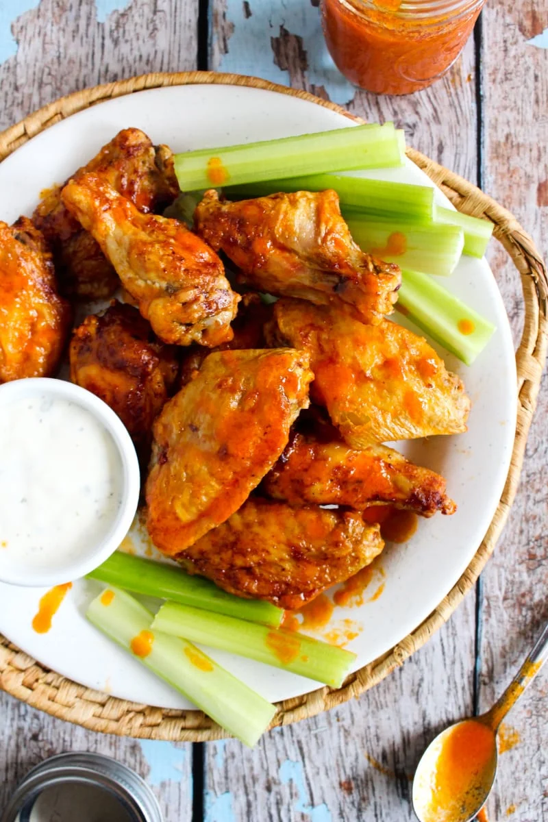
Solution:
<path fill-rule="evenodd" d="M 394 322 L 365 326 L 333 307 L 283 299 L 266 334 L 310 354 L 311 399 L 352 448 L 466 431 L 463 382 L 426 339 Z"/>

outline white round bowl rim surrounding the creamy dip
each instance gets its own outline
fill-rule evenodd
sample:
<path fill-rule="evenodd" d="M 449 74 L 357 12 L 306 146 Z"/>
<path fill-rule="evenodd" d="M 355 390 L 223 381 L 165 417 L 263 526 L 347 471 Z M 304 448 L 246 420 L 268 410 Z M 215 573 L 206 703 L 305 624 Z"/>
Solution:
<path fill-rule="evenodd" d="M 75 386 L 71 382 L 49 379 L 48 377 L 31 377 L 15 380 L 0 386 L 0 424 L 2 411 L 20 400 L 36 399 L 37 397 L 62 399 L 80 406 L 94 424 L 99 424 L 110 436 L 113 443 L 113 453 L 119 459 L 116 466 L 120 503 L 113 512 L 112 521 L 105 524 L 104 531 L 95 542 L 85 545 L 82 538 L 81 551 L 76 550 L 75 556 L 48 558 L 47 567 L 44 563 L 33 563 L 25 552 L 17 552 L 16 540 L 0 547 L 0 581 L 12 585 L 44 588 L 77 580 L 101 565 L 117 549 L 122 539 L 130 529 L 131 522 L 137 510 L 140 494 L 139 461 L 135 446 L 113 409 L 109 408 L 102 399 L 91 394 L 90 391 Z M 62 436 L 62 434 L 61 434 Z M 109 443 L 110 446 L 110 443 Z M 0 455 L 2 459 L 2 455 Z M 75 455 L 76 459 L 76 455 Z M 0 540 L 2 540 L 2 523 L 0 522 Z M 0 543 L 1 545 L 2 543 Z M 8 550 L 9 560 L 5 555 L 2 561 L 2 551 Z M 18 558 L 21 561 L 18 561 Z"/>

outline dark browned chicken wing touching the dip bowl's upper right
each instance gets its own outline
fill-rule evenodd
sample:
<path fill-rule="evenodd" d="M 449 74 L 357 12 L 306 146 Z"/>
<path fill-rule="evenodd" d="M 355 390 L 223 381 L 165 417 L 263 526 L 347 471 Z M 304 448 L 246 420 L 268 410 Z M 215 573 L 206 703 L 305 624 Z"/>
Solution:
<path fill-rule="evenodd" d="M 70 357 L 71 381 L 110 405 L 144 457 L 177 377 L 175 349 L 159 342 L 136 308 L 113 301 L 74 330 Z"/>

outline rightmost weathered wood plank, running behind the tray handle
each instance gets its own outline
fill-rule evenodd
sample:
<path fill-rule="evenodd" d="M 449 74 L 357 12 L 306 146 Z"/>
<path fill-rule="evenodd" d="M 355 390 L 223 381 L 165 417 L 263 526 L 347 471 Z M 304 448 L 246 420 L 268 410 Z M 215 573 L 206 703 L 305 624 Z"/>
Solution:
<path fill-rule="evenodd" d="M 485 189 L 517 216 L 541 252 L 548 251 L 548 51 L 530 42 L 548 20 L 546 0 L 509 0 L 483 12 Z M 521 328 L 518 276 L 502 250 L 490 263 L 509 308 L 514 335 Z M 548 382 L 527 445 L 523 476 L 500 546 L 483 575 L 480 708 L 508 684 L 548 617 L 548 496 L 546 414 Z M 546 672 L 537 677 L 508 719 L 521 739 L 500 758 L 489 803 L 492 819 L 548 820 Z M 511 737 L 508 732 L 507 737 Z M 515 741 L 510 738 L 510 742 Z"/>

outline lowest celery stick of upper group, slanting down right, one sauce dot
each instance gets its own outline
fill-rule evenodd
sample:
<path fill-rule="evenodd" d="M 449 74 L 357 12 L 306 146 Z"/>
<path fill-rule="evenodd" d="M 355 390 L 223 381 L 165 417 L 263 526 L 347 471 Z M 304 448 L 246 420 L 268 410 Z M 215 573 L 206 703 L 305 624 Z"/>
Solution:
<path fill-rule="evenodd" d="M 419 271 L 402 271 L 396 308 L 467 365 L 495 331 L 492 322 Z"/>

